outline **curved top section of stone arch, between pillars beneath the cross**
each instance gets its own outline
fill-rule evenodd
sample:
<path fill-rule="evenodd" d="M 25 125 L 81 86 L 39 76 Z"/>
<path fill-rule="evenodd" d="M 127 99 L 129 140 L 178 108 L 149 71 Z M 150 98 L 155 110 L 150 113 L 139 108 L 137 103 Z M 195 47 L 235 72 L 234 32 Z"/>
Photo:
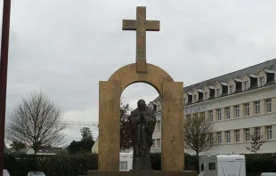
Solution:
<path fill-rule="evenodd" d="M 163 92 L 163 82 L 175 82 L 165 70 L 152 64 L 147 64 L 147 74 L 139 74 L 136 72 L 136 64 L 134 63 L 119 68 L 110 76 L 109 81 L 120 82 L 121 92 L 124 92 L 126 87 L 130 84 L 150 84 L 156 89 L 159 95 L 162 95 Z"/>

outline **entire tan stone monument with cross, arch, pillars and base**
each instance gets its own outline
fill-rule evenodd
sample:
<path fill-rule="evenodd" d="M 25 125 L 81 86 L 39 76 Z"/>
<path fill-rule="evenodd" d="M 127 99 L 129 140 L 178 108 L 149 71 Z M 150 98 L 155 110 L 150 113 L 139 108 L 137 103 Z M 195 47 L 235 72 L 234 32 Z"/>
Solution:
<path fill-rule="evenodd" d="M 146 31 L 158 31 L 159 21 L 146 20 L 146 7 L 137 7 L 136 20 L 123 20 L 123 30 L 136 30 L 136 62 L 119 68 L 110 76 L 108 81 L 100 81 L 98 171 L 88 172 L 88 175 L 196 176 L 197 172 L 183 171 L 183 83 L 175 82 L 166 71 L 147 63 L 146 60 Z M 143 150 L 144 155 L 138 155 L 137 164 L 134 162 L 134 169 L 140 171 L 119 172 L 120 96 L 128 85 L 134 83 L 150 84 L 157 90 L 162 99 L 161 172 L 141 170 L 141 168 L 150 168 L 150 164 L 145 161 L 141 162 L 139 158 L 149 158 L 147 149 Z M 151 120 L 148 119 L 150 122 L 148 124 L 154 124 L 154 116 L 147 110 L 142 111 L 147 114 L 143 117 L 152 118 Z M 132 114 L 134 118 L 137 117 L 135 110 Z M 140 112 L 140 117 L 141 114 Z M 148 125 L 142 122 L 140 127 L 145 127 L 145 124 Z M 142 131 L 137 131 L 136 128 L 132 132 L 139 134 Z M 149 148 L 150 142 L 146 141 L 144 145 L 144 147 Z M 139 151 L 139 148 L 137 149 L 134 150 Z"/>

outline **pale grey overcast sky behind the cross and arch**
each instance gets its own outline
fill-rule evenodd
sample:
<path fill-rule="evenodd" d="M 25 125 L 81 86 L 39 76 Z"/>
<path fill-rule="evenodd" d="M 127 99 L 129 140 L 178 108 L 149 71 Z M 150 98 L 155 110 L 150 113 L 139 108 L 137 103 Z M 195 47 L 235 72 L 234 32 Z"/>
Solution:
<path fill-rule="evenodd" d="M 275 0 L 12 0 L 6 121 L 41 91 L 64 121 L 98 122 L 99 81 L 135 61 L 135 32 L 122 20 L 134 20 L 136 6 L 160 20 L 147 32 L 147 61 L 184 86 L 276 58 Z M 132 84 L 122 96 L 135 108 L 158 92 Z M 67 143 L 82 127 L 68 126 Z"/>

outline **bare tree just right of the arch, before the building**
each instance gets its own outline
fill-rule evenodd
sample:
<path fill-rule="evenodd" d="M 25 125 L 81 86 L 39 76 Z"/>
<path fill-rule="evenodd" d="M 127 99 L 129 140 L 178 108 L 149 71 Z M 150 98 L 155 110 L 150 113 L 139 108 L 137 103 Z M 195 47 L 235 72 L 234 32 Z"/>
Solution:
<path fill-rule="evenodd" d="M 195 151 L 198 159 L 199 153 L 215 149 L 219 145 L 213 124 L 198 114 L 186 117 L 183 134 L 185 148 Z"/>

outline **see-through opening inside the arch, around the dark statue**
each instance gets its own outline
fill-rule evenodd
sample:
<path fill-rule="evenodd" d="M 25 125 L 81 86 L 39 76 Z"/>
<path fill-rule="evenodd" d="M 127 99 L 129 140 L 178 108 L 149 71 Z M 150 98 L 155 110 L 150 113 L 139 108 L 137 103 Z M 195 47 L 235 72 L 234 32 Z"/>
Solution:
<path fill-rule="evenodd" d="M 138 100 L 145 100 L 147 106 L 149 108 L 160 110 L 161 105 L 158 103 L 153 103 L 152 101 L 155 100 L 159 96 L 159 93 L 156 88 L 151 86 L 150 84 L 146 83 L 134 83 L 129 84 L 126 89 L 122 92 L 120 100 L 120 170 L 128 170 L 131 168 L 133 164 L 133 146 L 131 143 L 131 132 L 130 132 L 130 125 L 128 121 L 128 117 L 130 116 L 131 110 L 137 108 L 137 101 Z M 154 145 L 151 149 L 161 149 L 161 146 L 157 146 L 157 138 L 161 138 L 161 132 L 157 131 L 157 127 L 161 127 L 160 119 L 161 116 L 157 116 L 157 124 L 156 128 L 153 132 L 153 142 Z M 160 143 L 159 143 L 160 144 Z M 127 156 L 126 153 L 130 155 Z"/>

